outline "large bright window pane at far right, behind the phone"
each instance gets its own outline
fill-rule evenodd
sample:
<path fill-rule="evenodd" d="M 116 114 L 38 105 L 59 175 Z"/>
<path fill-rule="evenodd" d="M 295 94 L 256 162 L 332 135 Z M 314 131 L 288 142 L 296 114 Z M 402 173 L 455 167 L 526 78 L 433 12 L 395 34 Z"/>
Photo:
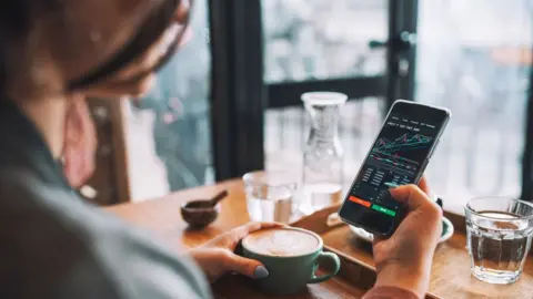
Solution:
<path fill-rule="evenodd" d="M 452 110 L 431 162 L 450 206 L 520 196 L 533 1 L 419 1 L 416 100 Z"/>

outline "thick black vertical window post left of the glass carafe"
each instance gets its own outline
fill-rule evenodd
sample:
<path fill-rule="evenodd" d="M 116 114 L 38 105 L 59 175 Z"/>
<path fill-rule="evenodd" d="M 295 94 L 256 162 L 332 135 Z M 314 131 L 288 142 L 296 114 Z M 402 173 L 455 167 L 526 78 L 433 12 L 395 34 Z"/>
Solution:
<path fill-rule="evenodd" d="M 211 117 L 217 179 L 264 166 L 260 0 L 209 0 Z"/>

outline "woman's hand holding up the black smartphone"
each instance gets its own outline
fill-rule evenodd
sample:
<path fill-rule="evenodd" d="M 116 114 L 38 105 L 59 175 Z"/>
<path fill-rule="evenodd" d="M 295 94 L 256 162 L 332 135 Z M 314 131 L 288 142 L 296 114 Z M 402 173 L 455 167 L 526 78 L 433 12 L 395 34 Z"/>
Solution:
<path fill-rule="evenodd" d="M 391 189 L 404 204 L 408 215 L 389 239 L 374 241 L 376 286 L 394 286 L 425 296 L 430 282 L 431 262 L 442 233 L 442 210 L 428 196 L 425 179 L 419 186 Z"/>

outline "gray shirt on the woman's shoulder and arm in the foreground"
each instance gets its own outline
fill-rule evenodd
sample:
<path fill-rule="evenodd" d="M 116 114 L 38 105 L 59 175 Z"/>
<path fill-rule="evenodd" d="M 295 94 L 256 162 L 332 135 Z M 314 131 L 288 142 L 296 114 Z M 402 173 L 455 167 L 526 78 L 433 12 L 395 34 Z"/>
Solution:
<path fill-rule="evenodd" d="M 178 217 L 178 216 L 177 216 Z M 211 298 L 195 265 L 81 199 L 0 103 L 0 298 Z"/>

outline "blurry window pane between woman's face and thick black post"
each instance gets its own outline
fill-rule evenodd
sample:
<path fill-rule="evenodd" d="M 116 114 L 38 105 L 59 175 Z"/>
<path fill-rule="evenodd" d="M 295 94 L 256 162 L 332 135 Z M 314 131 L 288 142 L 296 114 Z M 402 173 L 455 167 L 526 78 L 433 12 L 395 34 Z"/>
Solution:
<path fill-rule="evenodd" d="M 129 117 L 135 199 L 213 181 L 208 1 L 194 1 L 192 13 L 192 39 L 160 71 L 157 85 Z"/>

